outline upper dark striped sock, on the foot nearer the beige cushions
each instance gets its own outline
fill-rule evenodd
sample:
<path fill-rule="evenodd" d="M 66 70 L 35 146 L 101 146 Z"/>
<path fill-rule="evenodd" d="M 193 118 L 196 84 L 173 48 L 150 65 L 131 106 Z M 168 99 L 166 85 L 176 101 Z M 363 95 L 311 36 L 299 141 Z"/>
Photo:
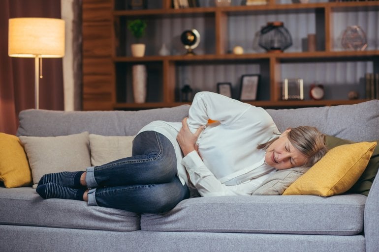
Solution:
<path fill-rule="evenodd" d="M 80 170 L 45 174 L 39 180 L 38 186 L 47 183 L 55 183 L 64 187 L 81 188 L 83 186 L 80 184 L 80 176 L 83 173 L 84 171 Z"/>

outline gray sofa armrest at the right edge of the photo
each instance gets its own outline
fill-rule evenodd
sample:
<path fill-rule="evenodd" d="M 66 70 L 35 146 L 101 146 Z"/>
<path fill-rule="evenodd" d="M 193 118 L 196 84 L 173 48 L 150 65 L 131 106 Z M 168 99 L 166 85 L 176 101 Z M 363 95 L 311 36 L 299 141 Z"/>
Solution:
<path fill-rule="evenodd" d="M 375 177 L 365 205 L 366 252 L 377 252 L 379 248 L 379 175 Z"/>

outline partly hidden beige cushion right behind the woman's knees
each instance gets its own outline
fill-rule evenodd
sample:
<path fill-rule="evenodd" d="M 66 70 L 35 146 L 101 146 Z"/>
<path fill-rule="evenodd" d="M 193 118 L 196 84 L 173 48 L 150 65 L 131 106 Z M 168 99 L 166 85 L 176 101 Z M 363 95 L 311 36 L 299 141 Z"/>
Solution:
<path fill-rule="evenodd" d="M 91 164 L 100 166 L 131 156 L 135 136 L 100 136 L 90 134 Z"/>

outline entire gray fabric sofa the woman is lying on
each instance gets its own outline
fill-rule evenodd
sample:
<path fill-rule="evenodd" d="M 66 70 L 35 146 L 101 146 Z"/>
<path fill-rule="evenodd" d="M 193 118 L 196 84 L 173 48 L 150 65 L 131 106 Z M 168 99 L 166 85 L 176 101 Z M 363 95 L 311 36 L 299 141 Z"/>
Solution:
<path fill-rule="evenodd" d="M 18 135 L 88 131 L 132 136 L 152 120 L 180 121 L 189 106 L 139 112 L 20 113 Z M 313 125 L 352 141 L 379 139 L 379 101 L 267 110 L 280 130 Z M 378 252 L 379 178 L 369 195 L 195 197 L 165 214 L 43 200 L 32 187 L 0 188 L 4 252 Z"/>

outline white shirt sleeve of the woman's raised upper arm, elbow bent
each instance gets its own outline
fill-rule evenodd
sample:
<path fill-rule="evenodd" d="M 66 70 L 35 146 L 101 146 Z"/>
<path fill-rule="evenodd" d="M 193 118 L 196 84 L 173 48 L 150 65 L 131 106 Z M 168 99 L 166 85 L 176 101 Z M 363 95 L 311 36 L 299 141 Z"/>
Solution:
<path fill-rule="evenodd" d="M 213 92 L 196 93 L 189 108 L 189 128 L 192 132 L 206 125 L 208 119 L 230 125 L 252 106 Z"/>

